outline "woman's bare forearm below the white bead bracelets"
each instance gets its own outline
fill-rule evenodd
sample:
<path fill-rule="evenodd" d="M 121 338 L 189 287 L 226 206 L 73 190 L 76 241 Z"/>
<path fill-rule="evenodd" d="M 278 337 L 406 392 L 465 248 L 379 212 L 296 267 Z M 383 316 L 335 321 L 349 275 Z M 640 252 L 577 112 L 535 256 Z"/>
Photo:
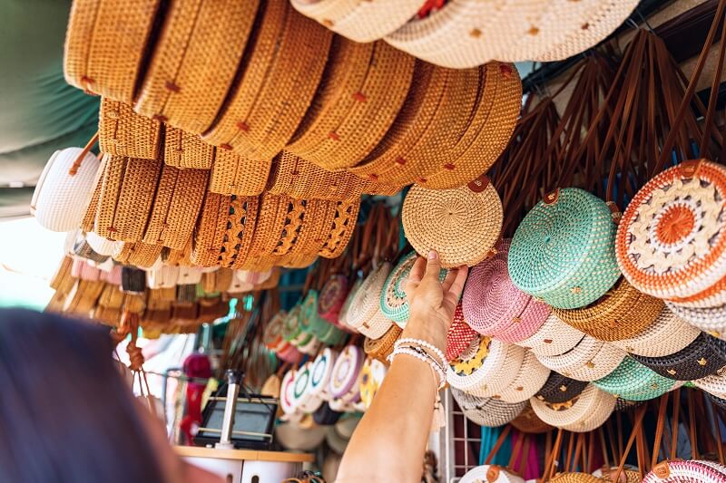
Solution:
<path fill-rule="evenodd" d="M 419 482 L 436 391 L 427 362 L 398 354 L 348 443 L 338 482 Z"/>

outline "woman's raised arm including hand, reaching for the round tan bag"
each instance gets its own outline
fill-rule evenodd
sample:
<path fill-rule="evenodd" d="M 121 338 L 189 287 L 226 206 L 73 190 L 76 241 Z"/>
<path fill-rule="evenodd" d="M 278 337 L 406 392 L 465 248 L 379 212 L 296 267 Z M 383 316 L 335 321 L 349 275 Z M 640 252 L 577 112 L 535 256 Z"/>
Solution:
<path fill-rule="evenodd" d="M 441 283 L 438 256 L 419 257 L 406 287 L 410 305 L 403 337 L 446 349 L 446 331 L 466 281 L 466 267 Z M 348 443 L 338 483 L 421 480 L 437 395 L 437 375 L 427 362 L 398 354 L 370 409 Z"/>

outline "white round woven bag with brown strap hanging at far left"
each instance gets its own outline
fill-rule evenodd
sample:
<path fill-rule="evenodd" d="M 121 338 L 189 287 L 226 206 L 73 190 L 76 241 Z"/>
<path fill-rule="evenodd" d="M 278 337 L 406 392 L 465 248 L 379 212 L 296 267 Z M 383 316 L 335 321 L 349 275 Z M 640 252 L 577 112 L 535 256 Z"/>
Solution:
<path fill-rule="evenodd" d="M 81 148 L 57 150 L 45 164 L 30 203 L 31 214 L 42 227 L 72 231 L 81 224 L 99 169 L 99 160 L 93 153 L 84 155 L 75 168 L 75 161 L 82 154 Z"/>

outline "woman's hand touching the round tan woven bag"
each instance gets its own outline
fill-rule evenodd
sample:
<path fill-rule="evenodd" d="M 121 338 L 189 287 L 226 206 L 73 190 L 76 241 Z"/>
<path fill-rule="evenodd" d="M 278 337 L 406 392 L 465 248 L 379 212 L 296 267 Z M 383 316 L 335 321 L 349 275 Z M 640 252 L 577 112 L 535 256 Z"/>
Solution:
<path fill-rule="evenodd" d="M 428 259 L 419 256 L 411 268 L 405 288 L 410 316 L 403 336 L 433 343 L 443 352 L 468 268 L 449 270 L 443 283 L 438 280 L 440 270 L 441 261 L 435 251 L 428 254 Z"/>

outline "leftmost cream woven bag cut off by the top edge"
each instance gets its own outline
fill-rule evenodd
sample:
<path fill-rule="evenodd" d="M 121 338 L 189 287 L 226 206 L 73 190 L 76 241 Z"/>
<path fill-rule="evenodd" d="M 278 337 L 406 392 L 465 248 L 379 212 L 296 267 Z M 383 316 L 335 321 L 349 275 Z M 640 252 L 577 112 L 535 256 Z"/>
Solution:
<path fill-rule="evenodd" d="M 300 14 L 317 20 L 350 40 L 373 42 L 406 24 L 424 3 L 424 0 L 383 0 L 376 3 L 293 0 L 292 6 Z"/>

